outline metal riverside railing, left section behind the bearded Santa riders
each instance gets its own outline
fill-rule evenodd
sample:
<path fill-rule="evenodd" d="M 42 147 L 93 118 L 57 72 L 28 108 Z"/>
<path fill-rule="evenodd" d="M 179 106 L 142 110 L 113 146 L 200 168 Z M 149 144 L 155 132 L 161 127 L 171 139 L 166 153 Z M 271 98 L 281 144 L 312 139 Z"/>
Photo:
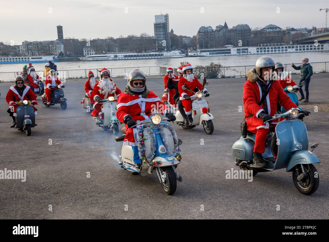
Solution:
<path fill-rule="evenodd" d="M 75 69 L 75 70 L 58 70 L 58 77 L 62 78 L 87 78 L 88 72 L 91 70 L 95 77 L 100 77 L 99 69 Z M 108 68 L 111 72 L 111 77 L 120 77 L 120 76 L 128 76 L 128 74 L 135 70 L 139 69 L 145 73 L 145 75 L 160 75 L 159 66 L 149 66 L 149 67 L 121 67 L 121 68 Z M 43 78 L 43 71 L 36 71 L 38 76 Z M 16 76 L 20 75 L 21 71 L 19 72 L 0 72 L 0 81 L 13 81 L 15 80 Z M 126 77 L 127 78 L 127 77 Z"/>

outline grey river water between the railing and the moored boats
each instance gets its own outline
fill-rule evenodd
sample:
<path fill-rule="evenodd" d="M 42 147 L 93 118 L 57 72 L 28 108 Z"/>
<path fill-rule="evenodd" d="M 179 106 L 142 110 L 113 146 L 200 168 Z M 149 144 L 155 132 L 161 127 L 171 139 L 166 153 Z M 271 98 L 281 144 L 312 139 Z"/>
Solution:
<path fill-rule="evenodd" d="M 329 61 L 329 51 L 321 52 L 302 52 L 302 53 L 280 53 L 267 54 L 275 62 L 288 64 L 291 62 L 301 63 L 304 57 L 312 62 Z M 118 67 L 146 67 L 146 66 L 166 66 L 180 67 L 180 62 L 188 61 L 192 66 L 206 66 L 211 62 L 220 63 L 222 66 L 249 66 L 255 65 L 256 60 L 262 55 L 233 55 L 233 56 L 211 56 L 211 57 L 185 57 L 168 59 L 141 59 L 141 60 L 115 60 L 115 61 L 72 61 L 56 62 L 58 70 L 71 69 L 96 69 L 96 68 L 118 68 Z M 27 63 L 26 63 L 27 64 Z M 44 69 L 45 63 L 33 63 L 36 71 Z M 1 64 L 0 72 L 22 71 L 25 64 Z"/>

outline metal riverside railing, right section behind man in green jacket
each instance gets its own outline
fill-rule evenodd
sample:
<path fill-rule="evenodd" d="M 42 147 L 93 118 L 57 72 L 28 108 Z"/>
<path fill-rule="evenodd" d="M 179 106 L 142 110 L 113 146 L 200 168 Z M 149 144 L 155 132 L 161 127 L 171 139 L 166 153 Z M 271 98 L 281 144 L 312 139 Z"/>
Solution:
<path fill-rule="evenodd" d="M 302 63 L 294 63 L 295 66 L 300 66 Z M 314 62 L 311 63 L 313 67 L 313 72 L 327 72 L 329 71 L 329 62 Z M 291 64 L 284 64 L 285 71 L 291 72 L 291 74 L 299 74 L 300 70 L 295 70 Z M 160 74 L 166 75 L 168 67 L 161 66 Z M 235 66 L 235 67 L 204 67 L 204 68 L 194 68 L 193 74 L 199 77 L 201 73 L 204 74 L 206 78 L 223 78 L 223 77 L 243 77 L 250 69 L 255 68 L 255 66 Z M 177 68 L 173 68 L 177 72 Z"/>

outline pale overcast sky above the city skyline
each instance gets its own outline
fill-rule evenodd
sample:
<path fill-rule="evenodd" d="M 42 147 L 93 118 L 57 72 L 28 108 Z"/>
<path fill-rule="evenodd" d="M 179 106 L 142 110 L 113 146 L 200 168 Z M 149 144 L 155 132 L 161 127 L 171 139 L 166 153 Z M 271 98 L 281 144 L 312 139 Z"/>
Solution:
<path fill-rule="evenodd" d="M 225 20 L 229 28 L 241 23 L 250 28 L 322 28 L 325 11 L 320 8 L 329 8 L 329 1 L 1 0 L 0 41 L 19 45 L 23 40 L 56 40 L 57 25 L 63 26 L 64 38 L 117 38 L 142 32 L 152 36 L 154 15 L 161 13 L 169 13 L 169 28 L 175 34 L 191 37 L 201 26 L 215 28 Z"/>

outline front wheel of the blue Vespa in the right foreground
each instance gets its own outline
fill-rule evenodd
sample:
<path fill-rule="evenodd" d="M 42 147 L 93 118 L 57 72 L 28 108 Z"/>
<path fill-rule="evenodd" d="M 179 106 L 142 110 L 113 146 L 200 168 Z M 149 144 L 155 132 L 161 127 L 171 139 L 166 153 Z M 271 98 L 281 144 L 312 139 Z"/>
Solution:
<path fill-rule="evenodd" d="M 303 164 L 303 167 L 306 177 L 300 181 L 298 181 L 297 177 L 302 174 L 301 165 L 298 164 L 294 167 L 294 171 L 292 172 L 293 184 L 295 184 L 297 190 L 302 194 L 311 195 L 315 193 L 319 186 L 319 174 L 313 164 Z"/>

